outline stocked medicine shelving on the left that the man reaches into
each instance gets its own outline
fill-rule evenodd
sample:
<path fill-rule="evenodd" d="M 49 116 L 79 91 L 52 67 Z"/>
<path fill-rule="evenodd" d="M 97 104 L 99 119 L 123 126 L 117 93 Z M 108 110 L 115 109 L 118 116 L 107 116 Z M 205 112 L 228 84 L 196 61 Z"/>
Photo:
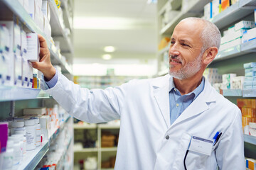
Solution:
<path fill-rule="evenodd" d="M 30 63 L 39 60 L 41 34 L 55 68 L 73 79 L 68 5 L 0 1 L 0 169 L 73 169 L 73 118 L 41 91 Z"/>

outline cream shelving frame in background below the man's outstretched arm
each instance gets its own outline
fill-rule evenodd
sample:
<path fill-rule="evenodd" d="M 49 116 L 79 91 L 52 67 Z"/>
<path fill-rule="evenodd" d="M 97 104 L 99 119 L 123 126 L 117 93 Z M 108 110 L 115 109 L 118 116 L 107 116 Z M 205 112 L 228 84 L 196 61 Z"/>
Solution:
<path fill-rule="evenodd" d="M 102 153 L 117 152 L 117 147 L 101 147 L 101 136 L 102 130 L 119 130 L 119 125 L 108 125 L 108 124 L 90 124 L 90 125 L 78 125 L 74 124 L 74 130 L 97 130 L 97 140 L 99 147 L 94 148 L 78 148 L 74 150 L 75 154 L 97 154 L 97 165 L 98 169 L 101 168 L 102 164 Z"/>

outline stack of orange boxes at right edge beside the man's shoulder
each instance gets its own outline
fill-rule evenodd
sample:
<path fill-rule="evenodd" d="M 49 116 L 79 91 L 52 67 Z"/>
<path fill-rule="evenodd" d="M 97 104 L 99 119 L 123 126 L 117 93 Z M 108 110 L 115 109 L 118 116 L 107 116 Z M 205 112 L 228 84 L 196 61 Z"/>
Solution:
<path fill-rule="evenodd" d="M 256 123 L 256 99 L 238 98 L 237 105 L 242 112 L 242 128 Z"/>

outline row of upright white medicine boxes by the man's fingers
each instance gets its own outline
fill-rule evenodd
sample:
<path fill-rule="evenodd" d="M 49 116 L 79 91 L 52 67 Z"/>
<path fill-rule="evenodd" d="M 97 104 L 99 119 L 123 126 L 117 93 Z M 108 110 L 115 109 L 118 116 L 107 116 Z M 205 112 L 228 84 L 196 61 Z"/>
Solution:
<path fill-rule="evenodd" d="M 33 68 L 39 61 L 36 33 L 25 33 L 14 21 L 0 21 L 0 84 L 32 87 Z"/>

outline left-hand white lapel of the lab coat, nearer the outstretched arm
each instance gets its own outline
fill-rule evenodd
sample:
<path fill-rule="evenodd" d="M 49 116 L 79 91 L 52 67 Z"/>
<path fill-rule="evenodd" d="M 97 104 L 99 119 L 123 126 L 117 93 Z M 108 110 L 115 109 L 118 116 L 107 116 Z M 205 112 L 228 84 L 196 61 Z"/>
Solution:
<path fill-rule="evenodd" d="M 158 104 L 161 114 L 164 117 L 167 128 L 171 125 L 170 123 L 170 108 L 169 108 L 169 79 L 170 76 L 166 75 L 161 79 L 155 79 L 152 83 L 154 98 Z"/>

